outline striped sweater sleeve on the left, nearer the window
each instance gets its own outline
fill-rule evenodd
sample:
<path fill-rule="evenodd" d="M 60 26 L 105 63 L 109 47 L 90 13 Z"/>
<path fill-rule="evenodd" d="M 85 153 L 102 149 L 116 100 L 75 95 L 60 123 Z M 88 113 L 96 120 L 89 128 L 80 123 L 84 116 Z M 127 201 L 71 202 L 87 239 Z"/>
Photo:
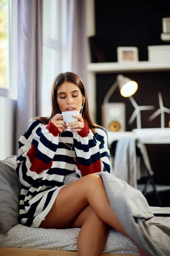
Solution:
<path fill-rule="evenodd" d="M 17 175 L 23 186 L 31 186 L 47 172 L 58 147 L 59 129 L 52 124 L 32 122 L 20 137 L 17 154 Z"/>

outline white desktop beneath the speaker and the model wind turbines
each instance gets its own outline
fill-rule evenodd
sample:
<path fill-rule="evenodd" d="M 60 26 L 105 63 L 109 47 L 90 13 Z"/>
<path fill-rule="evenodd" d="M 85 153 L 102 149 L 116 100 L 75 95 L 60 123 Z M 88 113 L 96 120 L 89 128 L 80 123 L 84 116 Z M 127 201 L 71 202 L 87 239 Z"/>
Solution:
<path fill-rule="evenodd" d="M 142 128 L 132 131 L 107 131 L 108 143 L 119 140 L 122 137 L 135 137 L 144 144 L 170 144 L 170 128 Z"/>

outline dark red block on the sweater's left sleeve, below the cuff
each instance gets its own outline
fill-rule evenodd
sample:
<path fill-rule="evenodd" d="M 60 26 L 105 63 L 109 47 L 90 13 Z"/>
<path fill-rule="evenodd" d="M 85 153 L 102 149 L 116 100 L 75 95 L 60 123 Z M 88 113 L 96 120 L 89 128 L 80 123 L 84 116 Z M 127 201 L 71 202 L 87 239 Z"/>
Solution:
<path fill-rule="evenodd" d="M 36 157 L 36 153 L 37 149 L 34 147 L 34 145 L 31 145 L 30 150 L 27 152 L 27 156 L 31 162 L 30 171 L 37 172 L 37 174 L 40 174 L 42 171 L 51 168 L 53 160 L 51 159 L 51 162 L 49 164 L 46 164 Z"/>

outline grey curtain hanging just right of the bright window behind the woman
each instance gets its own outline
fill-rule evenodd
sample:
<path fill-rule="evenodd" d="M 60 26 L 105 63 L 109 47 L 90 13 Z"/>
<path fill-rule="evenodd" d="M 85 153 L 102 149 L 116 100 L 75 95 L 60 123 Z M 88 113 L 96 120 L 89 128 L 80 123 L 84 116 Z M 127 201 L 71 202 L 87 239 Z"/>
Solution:
<path fill-rule="evenodd" d="M 87 86 L 86 0 L 74 0 L 72 71 Z"/>

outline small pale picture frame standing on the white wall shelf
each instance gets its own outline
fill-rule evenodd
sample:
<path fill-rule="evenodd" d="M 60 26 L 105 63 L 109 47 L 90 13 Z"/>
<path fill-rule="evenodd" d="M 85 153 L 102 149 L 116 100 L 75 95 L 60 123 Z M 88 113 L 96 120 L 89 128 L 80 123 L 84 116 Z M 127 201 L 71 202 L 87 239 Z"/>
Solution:
<path fill-rule="evenodd" d="M 117 61 L 118 62 L 137 62 L 138 48 L 137 47 L 117 47 Z"/>

